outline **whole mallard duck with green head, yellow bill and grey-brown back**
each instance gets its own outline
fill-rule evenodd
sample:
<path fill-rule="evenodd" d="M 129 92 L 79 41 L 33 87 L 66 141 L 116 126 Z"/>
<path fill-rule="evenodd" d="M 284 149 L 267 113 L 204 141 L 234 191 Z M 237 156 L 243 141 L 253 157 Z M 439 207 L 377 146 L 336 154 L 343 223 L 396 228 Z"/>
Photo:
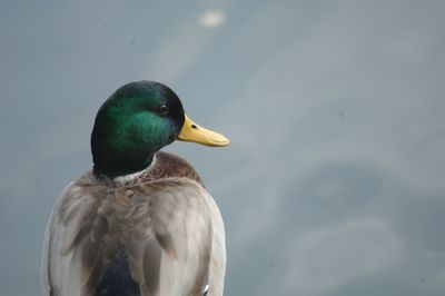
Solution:
<path fill-rule="evenodd" d="M 137 81 L 99 109 L 93 167 L 56 203 L 42 251 L 43 295 L 222 295 L 222 218 L 175 140 L 226 146 L 167 86 Z"/>

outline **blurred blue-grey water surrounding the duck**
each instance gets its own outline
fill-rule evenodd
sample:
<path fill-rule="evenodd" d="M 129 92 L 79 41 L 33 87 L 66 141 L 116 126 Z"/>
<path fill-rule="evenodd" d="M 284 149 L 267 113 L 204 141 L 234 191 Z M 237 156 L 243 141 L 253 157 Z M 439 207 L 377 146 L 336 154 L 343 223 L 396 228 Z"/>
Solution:
<path fill-rule="evenodd" d="M 39 295 L 101 102 L 158 80 L 233 145 L 167 148 L 227 228 L 226 295 L 445 295 L 444 1 L 0 1 L 0 294 Z"/>

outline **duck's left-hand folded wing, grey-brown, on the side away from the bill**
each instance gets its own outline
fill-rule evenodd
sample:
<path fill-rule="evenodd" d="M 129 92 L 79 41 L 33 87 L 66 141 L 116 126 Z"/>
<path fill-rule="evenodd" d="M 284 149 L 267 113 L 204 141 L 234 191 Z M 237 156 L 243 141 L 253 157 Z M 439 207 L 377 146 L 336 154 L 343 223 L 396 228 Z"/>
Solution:
<path fill-rule="evenodd" d="M 42 253 L 43 295 L 90 295 L 117 244 L 109 244 L 107 189 L 70 184 L 56 204 Z M 108 240 L 108 244 L 107 244 Z M 116 240 L 116 238 L 115 238 Z"/>

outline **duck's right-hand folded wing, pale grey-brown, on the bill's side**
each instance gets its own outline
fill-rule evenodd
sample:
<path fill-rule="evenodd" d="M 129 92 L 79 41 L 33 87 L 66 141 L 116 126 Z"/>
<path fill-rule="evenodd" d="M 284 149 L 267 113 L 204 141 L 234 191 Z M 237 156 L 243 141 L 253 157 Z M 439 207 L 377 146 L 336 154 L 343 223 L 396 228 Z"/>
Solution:
<path fill-rule="evenodd" d="M 206 191 L 184 180 L 131 190 L 136 200 L 149 196 L 129 240 L 130 268 L 147 293 L 142 295 L 202 295 L 212 241 Z"/>

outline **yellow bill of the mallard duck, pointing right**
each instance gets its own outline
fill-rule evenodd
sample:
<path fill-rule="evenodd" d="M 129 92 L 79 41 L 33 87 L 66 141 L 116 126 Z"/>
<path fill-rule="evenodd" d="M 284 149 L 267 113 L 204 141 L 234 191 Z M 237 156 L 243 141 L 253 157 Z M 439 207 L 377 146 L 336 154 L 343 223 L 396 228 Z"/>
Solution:
<path fill-rule="evenodd" d="M 230 140 L 221 134 L 205 129 L 204 127 L 195 124 L 188 116 L 186 116 L 181 131 L 178 135 L 178 140 L 194 141 L 206 146 L 221 147 L 230 144 Z"/>

